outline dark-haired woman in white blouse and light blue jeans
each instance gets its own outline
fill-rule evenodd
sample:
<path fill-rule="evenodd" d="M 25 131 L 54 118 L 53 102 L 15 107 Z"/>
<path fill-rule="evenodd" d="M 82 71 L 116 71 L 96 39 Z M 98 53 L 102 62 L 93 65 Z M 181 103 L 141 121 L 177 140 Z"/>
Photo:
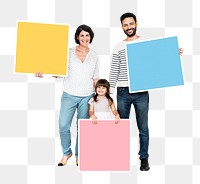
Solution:
<path fill-rule="evenodd" d="M 70 127 L 75 111 L 77 110 L 77 120 L 89 118 L 88 101 L 93 97 L 94 84 L 99 78 L 99 57 L 89 48 L 93 37 L 92 29 L 87 25 L 81 25 L 77 28 L 74 37 L 78 46 L 69 49 L 68 76 L 63 82 L 59 117 L 63 157 L 58 166 L 66 165 L 67 160 L 72 156 Z M 36 73 L 36 77 L 43 77 L 43 75 L 39 72 Z M 75 157 L 78 165 L 78 134 Z"/>

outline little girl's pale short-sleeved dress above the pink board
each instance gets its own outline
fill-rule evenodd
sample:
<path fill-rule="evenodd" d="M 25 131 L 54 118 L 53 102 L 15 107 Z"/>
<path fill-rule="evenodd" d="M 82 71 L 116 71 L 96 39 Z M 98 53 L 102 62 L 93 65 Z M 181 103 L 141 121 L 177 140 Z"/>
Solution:
<path fill-rule="evenodd" d="M 115 119 L 106 97 L 97 97 L 97 102 L 91 98 L 88 103 L 94 106 L 94 115 L 97 119 Z"/>

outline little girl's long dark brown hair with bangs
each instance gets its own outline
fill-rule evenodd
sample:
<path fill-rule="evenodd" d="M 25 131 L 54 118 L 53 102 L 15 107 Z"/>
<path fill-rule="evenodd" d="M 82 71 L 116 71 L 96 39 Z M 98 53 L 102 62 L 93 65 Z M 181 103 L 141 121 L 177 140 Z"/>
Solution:
<path fill-rule="evenodd" d="M 106 79 L 99 79 L 97 81 L 96 85 L 95 85 L 95 92 L 97 91 L 97 88 L 101 87 L 101 86 L 103 86 L 103 87 L 105 87 L 107 89 L 107 92 L 106 92 L 105 96 L 108 99 L 109 105 L 112 105 L 113 99 L 110 96 L 110 84 L 109 84 L 109 82 Z M 97 96 L 98 96 L 98 94 L 96 92 L 95 95 L 94 95 L 94 101 L 95 102 L 97 102 Z"/>

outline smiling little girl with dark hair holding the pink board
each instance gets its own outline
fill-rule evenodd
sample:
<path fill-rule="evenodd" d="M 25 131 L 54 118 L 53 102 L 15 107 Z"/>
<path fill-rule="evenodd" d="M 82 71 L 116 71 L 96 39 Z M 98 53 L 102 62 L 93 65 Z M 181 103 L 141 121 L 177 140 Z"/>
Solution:
<path fill-rule="evenodd" d="M 90 104 L 89 115 L 93 123 L 97 119 L 114 119 L 118 123 L 119 114 L 110 96 L 110 84 L 106 79 L 100 79 L 95 85 L 95 96 L 88 102 Z"/>

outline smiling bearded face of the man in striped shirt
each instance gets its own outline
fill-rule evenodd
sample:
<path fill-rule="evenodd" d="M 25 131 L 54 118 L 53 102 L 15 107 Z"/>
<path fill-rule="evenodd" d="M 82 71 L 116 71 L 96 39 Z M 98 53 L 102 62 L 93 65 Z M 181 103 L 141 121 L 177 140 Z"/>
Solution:
<path fill-rule="evenodd" d="M 122 29 L 128 37 L 132 37 L 136 34 L 137 23 L 133 17 L 127 17 L 122 21 Z"/>

